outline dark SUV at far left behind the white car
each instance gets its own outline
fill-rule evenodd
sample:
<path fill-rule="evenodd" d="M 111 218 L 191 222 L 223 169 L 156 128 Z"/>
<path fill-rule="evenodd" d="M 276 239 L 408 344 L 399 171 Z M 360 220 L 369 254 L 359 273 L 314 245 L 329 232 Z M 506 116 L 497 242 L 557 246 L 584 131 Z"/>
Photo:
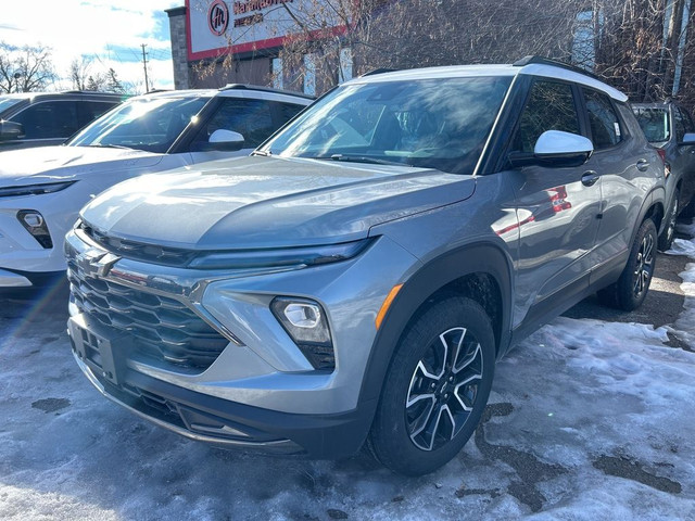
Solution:
<path fill-rule="evenodd" d="M 2 94 L 0 152 L 61 144 L 126 98 L 86 91 Z"/>

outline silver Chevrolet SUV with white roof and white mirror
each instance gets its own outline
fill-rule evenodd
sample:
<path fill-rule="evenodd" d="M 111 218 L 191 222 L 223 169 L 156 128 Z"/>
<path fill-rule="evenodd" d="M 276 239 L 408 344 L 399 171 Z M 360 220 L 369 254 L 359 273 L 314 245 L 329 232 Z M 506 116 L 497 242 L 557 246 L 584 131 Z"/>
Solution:
<path fill-rule="evenodd" d="M 121 183 L 66 239 L 77 363 L 193 440 L 430 472 L 513 344 L 644 300 L 664 164 L 626 101 L 535 59 L 377 74 L 254 156 Z"/>

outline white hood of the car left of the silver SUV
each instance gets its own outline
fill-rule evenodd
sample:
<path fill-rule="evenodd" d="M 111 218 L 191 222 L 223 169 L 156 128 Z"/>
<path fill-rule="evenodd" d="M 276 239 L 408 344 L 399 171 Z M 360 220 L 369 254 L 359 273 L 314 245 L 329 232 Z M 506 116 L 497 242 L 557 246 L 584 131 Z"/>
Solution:
<path fill-rule="evenodd" d="M 147 168 L 162 154 L 100 147 L 39 147 L 0 153 L 0 186 L 77 179 L 108 169 Z"/>

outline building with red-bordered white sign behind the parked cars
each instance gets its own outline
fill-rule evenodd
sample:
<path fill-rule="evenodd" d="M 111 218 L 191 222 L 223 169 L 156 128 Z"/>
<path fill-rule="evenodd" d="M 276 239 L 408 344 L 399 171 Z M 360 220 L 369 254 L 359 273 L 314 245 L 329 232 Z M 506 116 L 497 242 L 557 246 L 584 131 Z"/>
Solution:
<path fill-rule="evenodd" d="M 315 0 L 186 0 L 185 7 L 168 10 L 175 87 L 244 82 L 323 92 L 332 86 L 323 79 L 328 64 L 315 61 L 312 52 L 305 52 L 300 63 L 283 56 L 286 48 L 298 41 L 294 13 L 316 5 Z M 309 35 L 312 39 L 340 39 L 345 33 L 337 18 L 321 23 L 323 30 Z M 350 49 L 342 49 L 339 60 L 340 79 L 351 78 Z"/>

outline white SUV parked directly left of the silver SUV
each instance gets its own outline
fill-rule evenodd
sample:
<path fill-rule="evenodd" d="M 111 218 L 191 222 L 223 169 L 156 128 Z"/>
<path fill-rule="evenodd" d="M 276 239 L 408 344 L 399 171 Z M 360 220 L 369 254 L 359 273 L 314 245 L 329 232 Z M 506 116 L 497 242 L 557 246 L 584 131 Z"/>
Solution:
<path fill-rule="evenodd" d="M 248 155 L 312 98 L 229 85 L 132 98 L 65 145 L 0 153 L 0 289 L 65 272 L 64 236 L 94 195 L 125 179 Z"/>

